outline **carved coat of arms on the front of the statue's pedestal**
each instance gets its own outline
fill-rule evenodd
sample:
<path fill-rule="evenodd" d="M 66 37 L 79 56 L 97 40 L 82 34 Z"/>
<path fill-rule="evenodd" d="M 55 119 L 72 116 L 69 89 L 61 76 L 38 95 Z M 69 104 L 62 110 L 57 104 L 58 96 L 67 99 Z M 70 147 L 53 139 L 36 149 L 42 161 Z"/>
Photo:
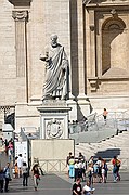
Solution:
<path fill-rule="evenodd" d="M 47 123 L 47 134 L 51 139 L 60 138 L 63 134 L 62 122 L 57 119 L 52 119 Z"/>

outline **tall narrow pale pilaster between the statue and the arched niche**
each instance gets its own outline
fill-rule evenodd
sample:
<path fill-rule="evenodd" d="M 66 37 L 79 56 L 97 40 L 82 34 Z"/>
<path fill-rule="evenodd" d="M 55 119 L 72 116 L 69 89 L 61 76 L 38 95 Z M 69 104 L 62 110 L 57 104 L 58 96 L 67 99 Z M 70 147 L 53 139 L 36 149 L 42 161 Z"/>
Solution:
<path fill-rule="evenodd" d="M 82 115 L 89 115 L 89 102 L 86 96 L 86 81 L 85 81 L 85 36 L 83 36 L 83 6 L 82 1 L 77 0 L 78 13 L 78 75 L 79 75 L 79 94 L 78 94 L 78 120 L 82 119 Z"/>

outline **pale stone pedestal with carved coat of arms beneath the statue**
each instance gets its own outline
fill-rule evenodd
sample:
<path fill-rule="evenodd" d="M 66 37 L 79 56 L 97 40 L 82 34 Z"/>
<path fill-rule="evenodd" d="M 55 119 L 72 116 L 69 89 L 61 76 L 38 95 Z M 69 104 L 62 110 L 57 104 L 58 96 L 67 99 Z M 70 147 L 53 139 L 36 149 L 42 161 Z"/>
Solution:
<path fill-rule="evenodd" d="M 40 112 L 40 139 L 68 139 L 68 112 L 65 101 L 43 101 Z"/>

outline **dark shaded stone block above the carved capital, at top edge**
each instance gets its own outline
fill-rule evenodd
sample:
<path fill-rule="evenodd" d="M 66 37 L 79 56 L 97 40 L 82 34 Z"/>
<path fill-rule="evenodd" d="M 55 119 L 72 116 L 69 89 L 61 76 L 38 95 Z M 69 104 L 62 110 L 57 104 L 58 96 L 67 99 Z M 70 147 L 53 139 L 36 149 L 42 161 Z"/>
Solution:
<path fill-rule="evenodd" d="M 33 0 L 8 0 L 14 8 L 29 8 Z"/>

